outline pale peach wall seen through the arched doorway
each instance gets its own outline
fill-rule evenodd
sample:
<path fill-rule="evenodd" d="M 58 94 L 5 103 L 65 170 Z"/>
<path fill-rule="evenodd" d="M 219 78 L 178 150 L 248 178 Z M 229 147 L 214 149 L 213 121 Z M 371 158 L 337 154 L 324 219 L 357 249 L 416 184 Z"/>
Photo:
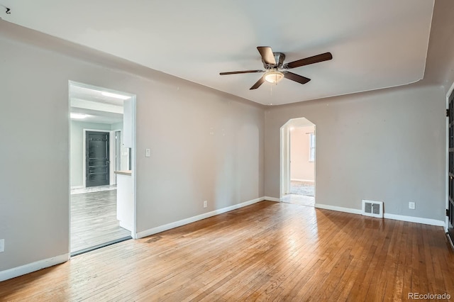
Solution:
<path fill-rule="evenodd" d="M 290 178 L 314 181 L 314 162 L 309 162 L 309 133 L 314 126 L 290 130 Z"/>

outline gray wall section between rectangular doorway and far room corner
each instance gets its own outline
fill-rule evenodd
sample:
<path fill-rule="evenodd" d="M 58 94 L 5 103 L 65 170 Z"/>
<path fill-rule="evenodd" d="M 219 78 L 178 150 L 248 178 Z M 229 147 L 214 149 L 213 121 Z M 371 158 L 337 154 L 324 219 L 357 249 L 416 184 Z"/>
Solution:
<path fill-rule="evenodd" d="M 195 216 L 204 200 L 212 211 L 263 196 L 262 108 L 184 83 L 153 85 L 145 94 L 138 104 L 137 198 L 146 201 L 138 232 Z"/>

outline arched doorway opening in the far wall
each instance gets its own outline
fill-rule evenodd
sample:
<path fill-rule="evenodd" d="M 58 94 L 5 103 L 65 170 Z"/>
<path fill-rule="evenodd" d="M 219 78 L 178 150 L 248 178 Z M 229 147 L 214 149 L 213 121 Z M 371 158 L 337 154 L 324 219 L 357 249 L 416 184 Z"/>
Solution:
<path fill-rule="evenodd" d="M 315 124 L 293 118 L 281 127 L 280 199 L 315 206 Z"/>

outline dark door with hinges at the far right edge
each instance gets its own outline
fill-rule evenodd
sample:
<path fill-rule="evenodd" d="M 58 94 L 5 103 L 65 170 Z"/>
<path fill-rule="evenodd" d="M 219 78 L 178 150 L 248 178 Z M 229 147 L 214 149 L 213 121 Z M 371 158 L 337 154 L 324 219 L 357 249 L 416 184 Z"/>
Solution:
<path fill-rule="evenodd" d="M 448 234 L 454 242 L 454 91 L 449 96 L 448 108 Z"/>

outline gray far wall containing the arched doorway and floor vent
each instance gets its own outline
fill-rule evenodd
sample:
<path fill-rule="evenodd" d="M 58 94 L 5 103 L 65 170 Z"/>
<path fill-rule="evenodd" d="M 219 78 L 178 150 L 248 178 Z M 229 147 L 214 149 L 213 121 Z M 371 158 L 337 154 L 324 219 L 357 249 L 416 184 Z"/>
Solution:
<path fill-rule="evenodd" d="M 279 198 L 279 128 L 316 124 L 316 203 L 445 217 L 445 93 L 407 86 L 269 108 L 265 113 L 265 196 Z M 409 210 L 409 201 L 416 210 Z"/>

